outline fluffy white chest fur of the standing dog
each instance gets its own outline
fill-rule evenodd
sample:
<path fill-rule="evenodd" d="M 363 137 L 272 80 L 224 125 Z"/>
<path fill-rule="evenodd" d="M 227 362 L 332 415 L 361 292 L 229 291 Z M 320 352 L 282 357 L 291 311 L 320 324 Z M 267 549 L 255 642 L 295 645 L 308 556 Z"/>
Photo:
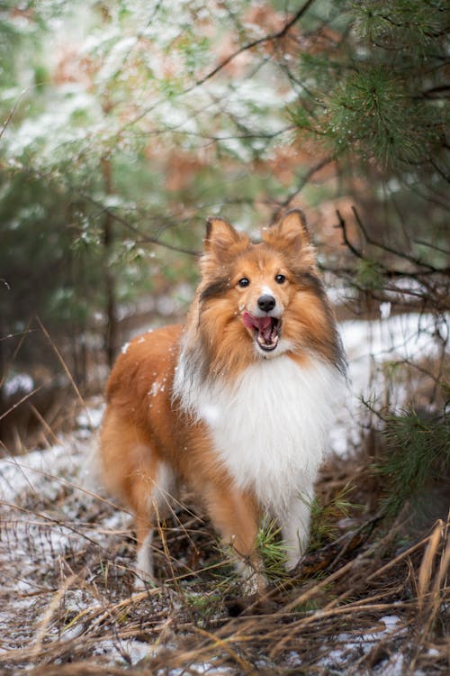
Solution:
<path fill-rule="evenodd" d="M 209 426 L 237 486 L 280 515 L 311 490 L 341 387 L 338 370 L 323 361 L 301 368 L 281 355 L 250 366 L 231 387 L 198 383 L 183 398 Z"/>

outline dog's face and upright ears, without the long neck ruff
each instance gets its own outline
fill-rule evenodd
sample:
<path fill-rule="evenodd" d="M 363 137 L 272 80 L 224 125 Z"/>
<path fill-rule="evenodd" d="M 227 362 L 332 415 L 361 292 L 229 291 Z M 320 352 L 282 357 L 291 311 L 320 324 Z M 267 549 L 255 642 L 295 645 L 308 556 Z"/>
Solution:
<path fill-rule="evenodd" d="M 262 357 L 294 350 L 313 317 L 324 317 L 324 294 L 304 215 L 290 211 L 250 242 L 220 218 L 208 221 L 202 256 L 201 311 L 232 333 L 234 347 Z M 312 316 L 311 316 L 312 315 Z M 319 322 L 320 324 L 320 322 Z M 323 326 L 322 328 L 326 328 Z M 310 340 L 311 342 L 311 340 Z"/>

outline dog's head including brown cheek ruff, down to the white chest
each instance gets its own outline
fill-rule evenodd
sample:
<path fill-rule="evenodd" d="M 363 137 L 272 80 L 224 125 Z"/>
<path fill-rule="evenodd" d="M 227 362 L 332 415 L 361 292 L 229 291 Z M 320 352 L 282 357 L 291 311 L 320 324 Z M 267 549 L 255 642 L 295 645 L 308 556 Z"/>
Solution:
<path fill-rule="evenodd" d="M 290 211 L 261 235 L 255 244 L 220 218 L 208 221 L 185 343 L 203 375 L 232 378 L 284 353 L 297 361 L 315 355 L 344 372 L 304 215 Z"/>

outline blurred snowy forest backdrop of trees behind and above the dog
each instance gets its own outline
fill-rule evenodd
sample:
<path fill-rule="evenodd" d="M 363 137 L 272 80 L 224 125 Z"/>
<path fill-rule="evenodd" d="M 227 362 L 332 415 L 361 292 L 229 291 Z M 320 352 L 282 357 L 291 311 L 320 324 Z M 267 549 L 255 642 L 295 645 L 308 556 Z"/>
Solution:
<path fill-rule="evenodd" d="M 5 409 L 22 373 L 60 391 L 58 354 L 98 391 L 182 315 L 208 215 L 302 206 L 341 316 L 428 307 L 442 333 L 447 25 L 433 0 L 3 3 Z"/>

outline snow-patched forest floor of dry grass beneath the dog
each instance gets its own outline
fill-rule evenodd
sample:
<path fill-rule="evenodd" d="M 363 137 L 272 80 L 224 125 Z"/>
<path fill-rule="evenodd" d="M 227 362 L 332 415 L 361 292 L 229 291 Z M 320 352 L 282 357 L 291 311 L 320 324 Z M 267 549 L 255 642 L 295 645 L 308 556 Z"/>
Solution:
<path fill-rule="evenodd" d="M 367 388 L 367 359 L 385 343 L 372 332 L 368 349 L 355 326 L 344 340 Z M 408 508 L 383 517 L 373 448 L 351 411 L 320 473 L 309 552 L 295 575 L 275 566 L 256 599 L 239 595 L 187 493 L 155 542 L 165 583 L 136 591 L 130 515 L 93 477 L 102 410 L 90 401 L 59 443 L 0 461 L 1 673 L 448 673 L 449 524 L 417 529 Z"/>

